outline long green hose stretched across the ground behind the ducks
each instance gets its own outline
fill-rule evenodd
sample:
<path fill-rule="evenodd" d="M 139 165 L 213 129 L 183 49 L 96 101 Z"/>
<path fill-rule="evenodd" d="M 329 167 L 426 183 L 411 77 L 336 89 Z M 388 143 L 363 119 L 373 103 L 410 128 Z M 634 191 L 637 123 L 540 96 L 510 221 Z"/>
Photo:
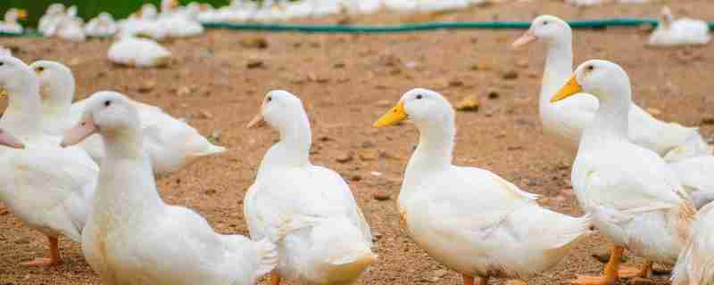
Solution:
<path fill-rule="evenodd" d="M 617 18 L 603 20 L 573 20 L 569 21 L 572 28 L 608 28 L 608 27 L 638 27 L 642 25 L 657 26 L 654 19 Z M 361 26 L 361 25 L 302 25 L 302 24 L 260 24 L 260 23 L 204 23 L 205 28 L 222 28 L 235 30 L 253 30 L 269 32 L 299 32 L 299 33 L 348 33 L 348 34 L 385 34 L 427 31 L 436 29 L 526 29 L 528 21 L 434 21 L 428 23 L 403 24 L 392 26 Z M 714 29 L 714 22 L 710 23 Z M 0 37 L 41 37 L 37 31 L 29 30 L 22 34 L 0 32 Z"/>

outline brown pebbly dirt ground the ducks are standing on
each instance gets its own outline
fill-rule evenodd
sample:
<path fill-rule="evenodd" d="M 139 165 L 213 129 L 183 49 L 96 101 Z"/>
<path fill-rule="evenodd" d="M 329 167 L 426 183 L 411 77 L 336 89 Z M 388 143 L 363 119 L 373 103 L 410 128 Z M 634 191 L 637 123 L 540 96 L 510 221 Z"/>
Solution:
<path fill-rule="evenodd" d="M 708 0 L 670 1 L 675 12 L 714 19 Z M 375 15 L 355 23 L 411 20 L 530 20 L 541 13 L 566 19 L 655 16 L 660 4 L 608 5 L 577 9 L 554 1 L 499 4 L 430 16 Z M 344 21 L 340 17 L 312 22 Z M 537 95 L 544 49 L 514 53 L 508 47 L 518 30 L 434 31 L 400 35 L 260 34 L 212 30 L 203 37 L 166 44 L 176 57 L 167 69 L 126 69 L 104 55 L 108 40 L 85 44 L 37 38 L 0 38 L 25 61 L 62 61 L 74 70 L 78 94 L 118 90 L 142 102 L 187 118 L 202 134 L 215 134 L 229 151 L 200 160 L 159 179 L 162 197 L 194 208 L 220 232 L 246 234 L 242 199 L 255 169 L 276 132 L 245 129 L 271 89 L 298 94 L 312 122 L 312 161 L 341 173 L 380 238 L 380 256 L 362 284 L 461 284 L 457 273 L 444 272 L 399 227 L 395 211 L 403 168 L 417 142 L 410 125 L 373 129 L 372 122 L 412 87 L 435 89 L 452 102 L 477 96 L 481 109 L 459 112 L 455 162 L 483 167 L 527 191 L 548 199 L 544 206 L 580 215 L 569 195 L 572 158 L 541 131 Z M 643 47 L 641 28 L 578 30 L 576 62 L 591 58 L 617 61 L 635 85 L 635 101 L 657 117 L 686 126 L 701 126 L 710 138 L 714 126 L 702 126 L 714 110 L 714 45 L 654 50 Z M 247 39 L 247 40 L 246 40 Z M 265 48 L 245 46 L 264 39 Z M 258 67 L 255 67 L 258 65 Z M 516 78 L 506 79 L 504 77 Z M 509 74 L 506 76 L 506 74 Z M 499 94 L 489 99 L 488 93 Z M 659 111 L 659 112 L 658 112 Z M 387 159 L 377 159 L 384 151 Z M 340 156 L 352 156 L 337 162 Z M 383 172 L 378 177 L 373 171 Z M 391 199 L 374 199 L 386 191 Z M 477 210 L 477 209 L 475 209 Z M 19 262 L 46 256 L 47 244 L 8 213 L 0 202 L 0 284 L 99 284 L 83 260 L 79 244 L 62 240 L 65 263 L 55 268 L 26 268 Z M 608 248 L 599 235 L 585 240 L 554 271 L 530 284 L 567 284 L 576 273 L 599 273 L 590 257 Z M 637 264 L 638 258 L 630 263 Z M 659 267 L 659 266 L 658 266 Z M 656 284 L 668 284 L 657 276 Z M 502 284 L 494 280 L 493 284 Z"/>

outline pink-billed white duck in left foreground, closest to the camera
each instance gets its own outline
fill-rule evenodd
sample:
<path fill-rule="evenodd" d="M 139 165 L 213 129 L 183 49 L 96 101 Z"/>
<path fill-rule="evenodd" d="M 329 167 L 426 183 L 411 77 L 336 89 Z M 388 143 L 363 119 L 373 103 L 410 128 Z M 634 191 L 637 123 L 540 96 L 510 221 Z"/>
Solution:
<path fill-rule="evenodd" d="M 123 95 L 93 95 L 62 146 L 95 133 L 107 155 L 82 252 L 104 284 L 254 284 L 275 267 L 278 252 L 270 240 L 218 234 L 193 210 L 162 200 L 139 115 Z"/>

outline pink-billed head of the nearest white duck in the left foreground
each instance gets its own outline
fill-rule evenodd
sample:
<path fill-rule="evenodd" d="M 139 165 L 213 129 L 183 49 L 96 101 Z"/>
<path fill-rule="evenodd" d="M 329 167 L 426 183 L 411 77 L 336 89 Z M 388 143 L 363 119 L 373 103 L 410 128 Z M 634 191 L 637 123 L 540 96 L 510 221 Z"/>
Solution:
<path fill-rule="evenodd" d="M 107 138 L 138 132 L 138 113 L 127 97 L 112 91 L 101 91 L 88 99 L 78 125 L 64 134 L 60 145 L 68 147 L 96 133 Z"/>

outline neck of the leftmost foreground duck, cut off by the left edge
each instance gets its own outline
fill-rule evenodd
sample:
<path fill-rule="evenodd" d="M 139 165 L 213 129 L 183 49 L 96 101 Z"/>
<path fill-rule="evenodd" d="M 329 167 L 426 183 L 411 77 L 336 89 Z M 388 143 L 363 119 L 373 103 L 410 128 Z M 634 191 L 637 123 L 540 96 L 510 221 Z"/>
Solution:
<path fill-rule="evenodd" d="M 42 134 L 42 120 L 37 116 L 42 110 L 37 77 L 27 74 L 4 85 L 8 94 L 7 108 L 0 118 L 0 126 L 23 140 Z"/>

